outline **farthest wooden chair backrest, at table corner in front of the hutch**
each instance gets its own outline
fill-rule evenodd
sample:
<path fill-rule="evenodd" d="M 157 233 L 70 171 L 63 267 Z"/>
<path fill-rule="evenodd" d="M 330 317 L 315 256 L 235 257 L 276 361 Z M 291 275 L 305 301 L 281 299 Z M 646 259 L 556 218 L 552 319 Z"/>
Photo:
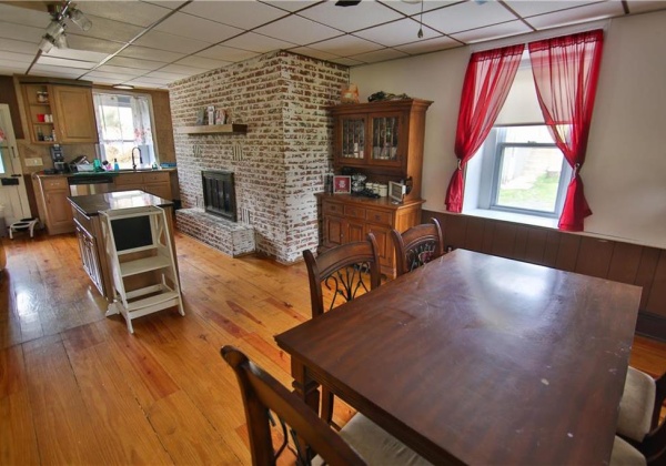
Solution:
<path fill-rule="evenodd" d="M 437 219 L 431 222 L 412 226 L 402 234 L 395 229 L 391 231 L 397 276 L 444 255 L 442 227 Z"/>

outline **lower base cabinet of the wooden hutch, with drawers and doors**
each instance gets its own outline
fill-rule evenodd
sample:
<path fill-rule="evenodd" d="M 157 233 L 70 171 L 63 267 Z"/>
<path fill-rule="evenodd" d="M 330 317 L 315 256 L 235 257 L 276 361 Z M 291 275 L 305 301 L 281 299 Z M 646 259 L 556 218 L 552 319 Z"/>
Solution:
<path fill-rule="evenodd" d="M 363 241 L 373 233 L 377 242 L 382 273 L 395 276 L 395 254 L 391 230 L 405 231 L 421 223 L 423 200 L 393 204 L 387 197 L 369 199 L 349 194 L 317 194 L 322 203 L 321 250 Z"/>

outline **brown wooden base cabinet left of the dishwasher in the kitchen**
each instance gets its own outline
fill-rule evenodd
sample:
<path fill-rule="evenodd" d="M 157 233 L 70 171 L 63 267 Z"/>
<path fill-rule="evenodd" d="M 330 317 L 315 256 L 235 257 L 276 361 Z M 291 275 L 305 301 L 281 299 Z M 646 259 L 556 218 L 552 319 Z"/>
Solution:
<path fill-rule="evenodd" d="M 49 234 L 71 233 L 74 231 L 72 210 L 67 197 L 69 183 L 64 175 L 38 175 L 38 199 L 40 213 Z"/>

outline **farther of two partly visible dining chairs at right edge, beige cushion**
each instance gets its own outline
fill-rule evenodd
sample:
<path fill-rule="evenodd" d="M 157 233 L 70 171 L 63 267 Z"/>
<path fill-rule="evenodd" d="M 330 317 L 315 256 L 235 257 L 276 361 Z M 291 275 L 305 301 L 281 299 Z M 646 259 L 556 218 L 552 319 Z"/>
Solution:
<path fill-rule="evenodd" d="M 617 434 L 638 448 L 648 464 L 662 457 L 666 460 L 666 423 L 659 424 L 665 399 L 666 374 L 655 379 L 629 366 L 619 403 Z"/>

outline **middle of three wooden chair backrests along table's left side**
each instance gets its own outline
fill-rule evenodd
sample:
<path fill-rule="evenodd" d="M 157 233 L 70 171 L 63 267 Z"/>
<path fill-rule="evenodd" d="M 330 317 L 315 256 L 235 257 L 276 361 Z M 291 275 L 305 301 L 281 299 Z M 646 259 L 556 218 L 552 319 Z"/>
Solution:
<path fill-rule="evenodd" d="M 324 286 L 332 293 L 327 311 L 380 286 L 380 256 L 372 233 L 367 234 L 366 241 L 342 244 L 324 251 L 316 259 L 305 250 L 303 259 L 310 278 L 313 317 L 324 313 Z"/>

